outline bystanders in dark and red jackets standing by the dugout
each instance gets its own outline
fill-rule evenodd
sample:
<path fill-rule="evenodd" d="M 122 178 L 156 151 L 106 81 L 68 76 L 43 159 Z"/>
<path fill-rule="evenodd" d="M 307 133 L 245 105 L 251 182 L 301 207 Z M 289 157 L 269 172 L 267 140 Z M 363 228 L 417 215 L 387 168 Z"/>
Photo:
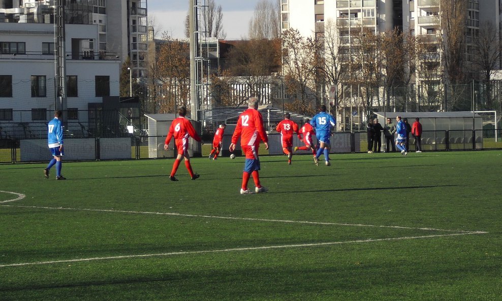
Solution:
<path fill-rule="evenodd" d="M 403 118 L 406 125 L 406 150 L 410 150 L 410 132 L 415 138 L 415 151 L 422 152 L 422 124 L 420 118 L 415 118 L 413 126 L 408 123 L 407 118 Z M 382 131 L 384 132 L 385 139 L 385 152 L 395 152 L 395 132 L 396 125 L 392 123 L 391 118 L 387 118 L 384 126 L 380 124 L 378 118 L 370 119 L 366 124 L 366 131 L 368 135 L 368 153 L 380 153 L 382 148 Z"/>

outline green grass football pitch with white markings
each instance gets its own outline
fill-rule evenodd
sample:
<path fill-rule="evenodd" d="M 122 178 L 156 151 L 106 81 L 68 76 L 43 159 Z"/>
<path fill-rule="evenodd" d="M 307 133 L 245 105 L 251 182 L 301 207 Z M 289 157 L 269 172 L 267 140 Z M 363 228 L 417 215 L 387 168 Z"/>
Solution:
<path fill-rule="evenodd" d="M 0 300 L 500 299 L 502 151 L 243 161 L 0 165 Z"/>

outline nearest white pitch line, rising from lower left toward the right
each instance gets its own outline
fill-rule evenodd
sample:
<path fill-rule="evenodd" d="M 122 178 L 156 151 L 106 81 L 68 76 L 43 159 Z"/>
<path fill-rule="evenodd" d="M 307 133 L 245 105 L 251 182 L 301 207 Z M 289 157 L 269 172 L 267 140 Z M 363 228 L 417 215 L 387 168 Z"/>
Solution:
<path fill-rule="evenodd" d="M 268 250 L 268 249 L 285 249 L 285 248 L 304 248 L 304 247 L 317 247 L 317 246 L 354 244 L 354 243 L 371 243 L 371 242 L 383 242 L 383 241 L 398 241 L 398 240 L 412 240 L 412 239 L 421 239 L 421 238 L 433 238 L 433 237 L 443 237 L 443 236 L 459 236 L 459 235 L 484 234 L 484 233 L 486 233 L 486 232 L 476 231 L 476 232 L 464 232 L 464 233 L 453 233 L 453 234 L 438 234 L 438 235 L 427 235 L 427 236 L 412 236 L 412 237 L 398 237 L 398 238 L 382 238 L 382 239 L 355 240 L 355 241 L 347 241 L 347 242 L 328 242 L 328 243 L 315 243 L 315 244 L 297 244 L 297 245 L 279 245 L 279 246 L 264 246 L 264 247 L 249 247 L 249 248 L 233 248 L 233 249 L 221 249 L 221 250 L 170 252 L 170 253 L 141 254 L 141 255 L 123 255 L 123 256 L 109 256 L 109 257 L 92 257 L 92 258 L 79 258 L 79 259 L 67 259 L 67 260 L 51 260 L 51 261 L 38 261 L 38 262 L 11 263 L 11 264 L 2 264 L 2 265 L 0 265 L 0 267 L 25 266 L 25 265 L 40 265 L 40 264 L 51 264 L 51 263 L 69 263 L 69 262 L 80 262 L 80 261 L 110 260 L 110 259 L 147 258 L 147 257 L 159 257 L 159 256 L 172 256 L 172 255 L 188 255 L 188 254 L 223 253 L 223 252 Z"/>

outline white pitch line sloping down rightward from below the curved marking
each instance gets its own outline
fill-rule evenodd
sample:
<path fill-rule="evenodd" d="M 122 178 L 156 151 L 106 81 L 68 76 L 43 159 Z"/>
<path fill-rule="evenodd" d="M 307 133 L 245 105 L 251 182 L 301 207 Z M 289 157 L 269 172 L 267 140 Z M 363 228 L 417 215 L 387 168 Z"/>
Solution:
<path fill-rule="evenodd" d="M 172 212 L 148 212 L 148 211 L 127 211 L 127 210 L 110 210 L 110 209 L 85 209 L 85 208 L 65 208 L 65 207 L 42 207 L 42 206 L 15 206 L 15 205 L 0 205 L 0 207 L 19 207 L 19 208 L 34 208 L 34 209 L 51 209 L 51 210 L 75 210 L 75 211 L 95 211 L 95 212 L 113 212 L 113 213 L 131 213 L 131 214 L 154 214 L 154 215 L 172 215 L 185 217 L 201 217 L 201 218 L 219 218 L 233 220 L 250 220 L 250 221 L 265 221 L 265 222 L 280 222 L 280 223 L 299 223 L 313 225 L 337 225 L 337 226 L 357 226 L 357 227 L 375 227 L 375 228 L 395 228 L 395 229 L 411 229 L 411 230 L 427 230 L 427 231 L 445 231 L 445 232 L 462 232 L 462 233 L 488 233 L 483 231 L 467 231 L 467 230 L 447 230 L 434 228 L 414 228 L 402 226 L 378 226 L 365 224 L 348 224 L 348 223 L 330 223 L 330 222 L 311 222 L 311 221 L 295 221 L 295 220 L 280 220 L 280 219 L 264 219 L 264 218 L 246 218 L 246 217 L 228 217 L 228 216 L 212 216 L 212 215 L 195 215 L 181 214 Z"/>

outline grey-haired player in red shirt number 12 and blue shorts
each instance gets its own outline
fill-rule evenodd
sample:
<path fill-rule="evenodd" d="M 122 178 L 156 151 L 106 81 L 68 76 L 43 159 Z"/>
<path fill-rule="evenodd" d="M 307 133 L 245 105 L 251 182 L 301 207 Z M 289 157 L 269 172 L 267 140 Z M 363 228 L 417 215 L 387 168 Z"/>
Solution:
<path fill-rule="evenodd" d="M 234 134 L 232 135 L 232 143 L 229 147 L 229 150 L 233 152 L 235 150 L 237 139 L 240 137 L 242 152 L 246 155 L 240 194 L 253 193 L 251 190 L 247 189 L 247 182 L 249 181 L 250 176 L 253 176 L 253 180 L 255 181 L 256 193 L 268 191 L 268 188 L 260 184 L 260 176 L 258 174 L 258 171 L 260 170 L 258 148 L 260 147 L 260 141 L 263 141 L 265 149 L 268 149 L 268 137 L 265 132 L 265 128 L 263 127 L 262 114 L 258 112 L 258 98 L 250 97 L 247 104 L 249 108 L 239 115 L 237 126 L 235 127 Z"/>

